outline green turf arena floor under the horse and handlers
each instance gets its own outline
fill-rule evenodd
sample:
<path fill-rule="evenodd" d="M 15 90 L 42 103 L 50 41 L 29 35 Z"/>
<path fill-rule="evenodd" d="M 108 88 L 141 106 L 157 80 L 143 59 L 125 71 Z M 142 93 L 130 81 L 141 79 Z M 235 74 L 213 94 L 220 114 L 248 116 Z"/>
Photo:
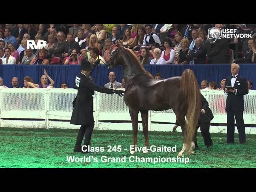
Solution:
<path fill-rule="evenodd" d="M 198 133 L 199 150 L 194 155 L 186 155 L 190 162 L 184 163 L 132 163 L 129 162 L 129 148 L 132 131 L 94 131 L 91 146 L 104 147 L 104 152 L 96 154 L 74 153 L 78 130 L 0 128 L 1 168 L 255 168 L 256 135 L 247 134 L 246 144 L 226 144 L 226 134 L 211 134 L 214 146 L 206 149 L 202 136 Z M 176 157 L 182 148 L 181 133 L 149 132 L 150 145 L 175 146 L 177 152 L 150 152 L 138 157 Z M 107 152 L 108 145 L 122 145 L 122 152 Z M 138 132 L 138 146 L 144 146 L 144 136 Z M 134 155 L 134 156 L 135 156 Z M 98 162 L 68 163 L 66 156 L 98 158 Z M 103 163 L 101 156 L 123 157 L 126 163 Z"/>

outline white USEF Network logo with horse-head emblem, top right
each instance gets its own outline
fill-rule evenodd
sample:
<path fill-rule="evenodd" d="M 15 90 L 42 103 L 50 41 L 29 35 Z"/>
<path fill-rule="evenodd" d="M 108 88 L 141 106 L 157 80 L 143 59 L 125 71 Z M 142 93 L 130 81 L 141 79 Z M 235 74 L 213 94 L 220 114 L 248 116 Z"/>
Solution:
<path fill-rule="evenodd" d="M 208 29 L 209 39 L 221 39 L 221 38 L 252 38 L 252 34 L 237 33 L 237 29 L 221 29 L 212 27 Z"/>

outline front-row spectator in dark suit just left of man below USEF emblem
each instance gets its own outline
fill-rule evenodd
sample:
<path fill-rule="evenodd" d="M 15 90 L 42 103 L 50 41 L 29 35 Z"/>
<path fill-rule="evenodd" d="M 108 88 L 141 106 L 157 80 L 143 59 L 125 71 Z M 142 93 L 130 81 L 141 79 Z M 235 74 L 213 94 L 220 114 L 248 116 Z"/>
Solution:
<path fill-rule="evenodd" d="M 189 61 L 190 64 L 202 64 L 206 60 L 206 48 L 204 48 L 203 40 L 201 38 L 197 38 L 195 40 L 195 46 L 192 52 L 187 56 L 186 60 Z"/>

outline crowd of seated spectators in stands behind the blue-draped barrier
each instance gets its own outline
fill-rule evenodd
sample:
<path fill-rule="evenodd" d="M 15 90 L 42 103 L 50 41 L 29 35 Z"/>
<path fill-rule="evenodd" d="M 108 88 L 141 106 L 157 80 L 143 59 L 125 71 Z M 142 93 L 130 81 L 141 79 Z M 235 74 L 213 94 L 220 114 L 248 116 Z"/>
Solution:
<path fill-rule="evenodd" d="M 208 29 L 237 29 L 237 33 L 250 33 L 252 38 L 208 38 Z M 144 64 L 228 64 L 256 63 L 256 24 L 0 24 L 0 64 L 21 65 L 79 65 L 82 60 L 93 64 L 100 59 L 106 64 L 117 47 L 133 50 Z M 28 40 L 46 41 L 45 48 L 27 48 Z M 238 47 L 235 50 L 235 46 Z M 238 58 L 234 58 L 234 51 Z M 156 74 L 161 79 L 161 74 Z M 108 88 L 125 88 L 116 82 L 114 72 L 109 74 Z M 48 84 L 47 80 L 50 81 Z M 17 88 L 18 78 L 12 78 Z M 54 86 L 47 72 L 41 84 L 32 78 L 23 78 L 25 88 Z M 204 80 L 202 88 L 223 89 L 217 82 Z M 248 86 L 252 82 L 248 80 Z M 0 86 L 4 86 L 0 78 Z M 68 88 L 66 83 L 62 88 Z"/>

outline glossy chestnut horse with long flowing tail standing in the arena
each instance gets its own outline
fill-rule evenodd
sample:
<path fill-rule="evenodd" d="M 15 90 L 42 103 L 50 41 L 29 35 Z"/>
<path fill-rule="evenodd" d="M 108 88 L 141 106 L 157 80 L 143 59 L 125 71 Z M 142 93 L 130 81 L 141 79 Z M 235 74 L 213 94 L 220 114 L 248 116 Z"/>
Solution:
<path fill-rule="evenodd" d="M 133 145 L 137 146 L 139 112 L 145 137 L 145 147 L 142 150 L 143 153 L 148 153 L 148 111 L 172 108 L 183 133 L 183 147 L 178 156 L 183 156 L 184 151 L 194 154 L 195 130 L 200 116 L 201 95 L 193 71 L 187 69 L 181 77 L 154 80 L 153 76 L 146 72 L 136 54 L 124 47 L 112 52 L 109 62 L 107 64 L 109 69 L 122 65 L 124 70 L 126 83 L 124 102 L 129 108 L 132 119 Z M 134 148 L 130 153 L 135 153 Z"/>

